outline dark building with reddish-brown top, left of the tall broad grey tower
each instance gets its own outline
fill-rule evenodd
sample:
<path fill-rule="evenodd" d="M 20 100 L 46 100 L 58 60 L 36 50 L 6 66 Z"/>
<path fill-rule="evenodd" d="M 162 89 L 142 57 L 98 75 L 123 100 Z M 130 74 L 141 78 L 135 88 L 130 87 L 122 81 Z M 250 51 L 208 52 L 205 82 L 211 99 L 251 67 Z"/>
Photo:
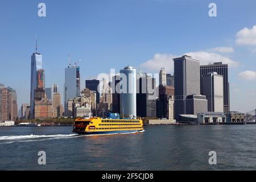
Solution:
<path fill-rule="evenodd" d="M 156 100 L 156 117 L 169 118 L 169 99 L 170 97 L 174 97 L 174 87 L 159 85 L 158 89 L 159 96 L 158 100 Z"/>

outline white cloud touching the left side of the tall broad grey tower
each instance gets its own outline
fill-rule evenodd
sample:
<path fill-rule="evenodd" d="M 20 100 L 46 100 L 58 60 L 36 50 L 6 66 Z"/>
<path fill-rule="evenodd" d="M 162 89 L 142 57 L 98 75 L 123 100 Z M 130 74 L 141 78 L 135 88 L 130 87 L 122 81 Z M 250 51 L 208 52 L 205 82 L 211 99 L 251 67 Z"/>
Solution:
<path fill-rule="evenodd" d="M 158 73 L 160 68 L 164 68 L 167 73 L 174 73 L 174 63 L 172 61 L 174 57 L 177 56 L 156 53 L 152 59 L 141 64 L 142 72 Z"/>

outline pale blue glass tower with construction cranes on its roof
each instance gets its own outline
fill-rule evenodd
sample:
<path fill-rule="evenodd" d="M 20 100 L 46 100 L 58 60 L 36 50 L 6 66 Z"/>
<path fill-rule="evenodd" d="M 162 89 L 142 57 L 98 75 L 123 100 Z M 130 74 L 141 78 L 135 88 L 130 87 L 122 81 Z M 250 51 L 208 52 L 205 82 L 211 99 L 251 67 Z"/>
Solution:
<path fill-rule="evenodd" d="M 65 115 L 68 114 L 68 100 L 80 96 L 80 68 L 76 65 L 68 65 L 65 68 L 65 83 L 64 83 L 64 107 Z"/>

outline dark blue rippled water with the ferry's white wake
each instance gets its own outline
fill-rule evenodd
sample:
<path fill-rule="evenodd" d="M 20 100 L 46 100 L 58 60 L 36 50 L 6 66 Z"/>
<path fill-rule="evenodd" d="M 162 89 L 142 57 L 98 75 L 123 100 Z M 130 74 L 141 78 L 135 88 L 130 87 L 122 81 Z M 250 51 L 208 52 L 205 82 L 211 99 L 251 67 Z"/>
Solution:
<path fill-rule="evenodd" d="M 77 135 L 72 127 L 0 127 L 1 170 L 251 170 L 256 125 L 146 126 Z M 46 165 L 38 152 L 46 152 Z M 217 152 L 217 165 L 208 163 Z"/>

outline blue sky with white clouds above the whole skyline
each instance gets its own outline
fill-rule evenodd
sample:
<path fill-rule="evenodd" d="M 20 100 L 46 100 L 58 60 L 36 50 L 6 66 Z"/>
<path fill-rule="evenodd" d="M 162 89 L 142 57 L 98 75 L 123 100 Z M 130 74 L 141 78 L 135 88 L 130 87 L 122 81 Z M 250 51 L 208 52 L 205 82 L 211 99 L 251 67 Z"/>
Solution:
<path fill-rule="evenodd" d="M 46 3 L 46 17 L 38 4 Z M 217 17 L 209 17 L 209 3 Z M 29 103 L 30 56 L 38 35 L 46 86 L 63 93 L 68 55 L 81 59 L 86 78 L 126 65 L 142 72 L 173 72 L 172 57 L 189 53 L 202 64 L 230 64 L 232 110 L 250 111 L 256 102 L 256 1 L 1 1 L 0 82 Z M 247 29 L 246 29 L 247 28 Z M 238 33 L 240 32 L 240 33 Z"/>

